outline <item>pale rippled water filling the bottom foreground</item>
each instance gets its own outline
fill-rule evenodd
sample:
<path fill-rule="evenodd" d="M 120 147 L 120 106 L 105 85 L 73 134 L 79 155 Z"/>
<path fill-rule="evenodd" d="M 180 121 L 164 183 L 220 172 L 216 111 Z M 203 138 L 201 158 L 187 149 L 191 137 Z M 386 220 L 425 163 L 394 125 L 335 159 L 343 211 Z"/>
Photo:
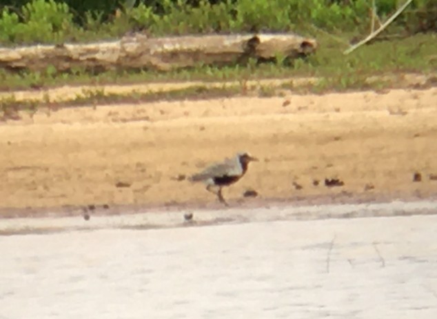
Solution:
<path fill-rule="evenodd" d="M 256 214 L 0 236 L 0 318 L 437 318 L 437 215 Z"/>

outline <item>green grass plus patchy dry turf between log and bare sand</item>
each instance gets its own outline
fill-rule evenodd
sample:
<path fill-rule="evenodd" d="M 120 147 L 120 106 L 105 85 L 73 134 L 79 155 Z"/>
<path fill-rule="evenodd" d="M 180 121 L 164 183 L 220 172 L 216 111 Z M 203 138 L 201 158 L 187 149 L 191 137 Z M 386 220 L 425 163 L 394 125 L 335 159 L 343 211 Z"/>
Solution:
<path fill-rule="evenodd" d="M 383 90 L 405 86 L 403 75 L 417 73 L 427 75 L 425 86 L 436 86 L 437 79 L 437 34 L 418 34 L 412 37 L 373 41 L 358 48 L 350 55 L 343 55 L 349 45 L 345 43 L 351 35 L 336 37 L 318 33 L 319 48 L 316 54 L 306 59 L 296 59 L 292 64 L 283 61 L 258 64 L 252 60 L 245 66 L 235 65 L 217 68 L 199 66 L 197 68 L 155 72 L 148 70 L 121 70 L 92 73 L 79 68 L 72 72 L 57 72 L 49 68 L 46 72 L 14 73 L 0 71 L 0 90 L 3 92 L 28 89 L 48 89 L 57 86 L 88 85 L 74 98 L 66 101 L 52 101 L 49 93 L 43 99 L 17 100 L 14 95 L 0 98 L 0 120 L 19 119 L 21 111 L 32 116 L 39 108 L 56 110 L 59 107 L 84 106 L 119 103 L 145 103 L 148 101 L 174 99 L 207 99 L 211 97 L 231 97 L 235 95 L 255 95 L 259 97 L 281 96 L 292 92 L 327 93 L 345 90 Z M 392 78 L 387 75 L 394 76 Z M 370 78 L 376 77 L 374 81 Z M 313 78 L 303 81 L 299 78 Z M 257 84 L 262 79 L 283 79 L 276 84 Z M 92 88 L 93 85 L 147 84 L 163 82 L 199 81 L 185 88 L 165 91 L 145 91 L 130 93 L 105 92 Z M 229 83 L 233 81 L 233 83 Z M 211 83 L 214 82 L 214 85 Z M 223 84 L 221 84 L 223 82 Z M 227 83 L 226 83 L 227 82 Z"/>

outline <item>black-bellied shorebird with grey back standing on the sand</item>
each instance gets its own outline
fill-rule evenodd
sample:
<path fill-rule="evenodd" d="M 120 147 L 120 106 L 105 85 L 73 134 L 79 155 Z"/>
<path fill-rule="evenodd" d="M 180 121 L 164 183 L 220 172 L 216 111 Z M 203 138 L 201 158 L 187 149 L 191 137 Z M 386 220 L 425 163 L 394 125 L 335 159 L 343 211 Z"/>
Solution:
<path fill-rule="evenodd" d="M 252 157 L 249 153 L 237 153 L 234 157 L 227 158 L 221 163 L 208 166 L 200 173 L 189 177 L 188 180 L 191 182 L 204 182 L 207 191 L 217 195 L 221 203 L 229 206 L 223 198 L 221 189 L 223 186 L 230 186 L 240 180 L 245 175 L 250 162 L 258 162 L 258 159 Z M 213 190 L 214 186 L 218 187 L 217 191 Z"/>

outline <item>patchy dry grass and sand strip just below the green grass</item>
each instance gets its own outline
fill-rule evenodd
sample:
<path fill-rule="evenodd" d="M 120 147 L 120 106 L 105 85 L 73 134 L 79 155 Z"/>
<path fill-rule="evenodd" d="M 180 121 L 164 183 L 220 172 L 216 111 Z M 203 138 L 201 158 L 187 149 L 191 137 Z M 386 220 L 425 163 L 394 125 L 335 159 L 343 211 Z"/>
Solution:
<path fill-rule="evenodd" d="M 416 84 L 416 88 L 427 88 L 437 85 L 437 76 L 428 77 L 424 84 Z M 16 99 L 14 94 L 0 99 L 0 122 L 8 120 L 19 120 L 23 111 L 33 117 L 42 108 L 50 116 L 52 111 L 59 108 L 72 106 L 93 106 L 110 104 L 140 104 L 152 101 L 171 100 L 199 100 L 218 97 L 235 96 L 257 96 L 257 97 L 284 97 L 287 94 L 323 94 L 330 92 L 345 92 L 354 90 L 373 89 L 382 92 L 387 88 L 399 88 L 409 86 L 403 81 L 403 75 L 394 77 L 369 78 L 363 75 L 340 76 L 320 78 L 296 82 L 294 80 L 283 80 L 276 84 L 264 83 L 262 81 L 239 81 L 237 84 L 204 84 L 193 85 L 187 88 L 176 88 L 169 90 L 148 90 L 147 92 L 132 91 L 128 93 L 107 93 L 104 89 L 83 89 L 81 93 L 72 99 L 52 101 L 49 93 L 43 95 L 43 99 Z"/>

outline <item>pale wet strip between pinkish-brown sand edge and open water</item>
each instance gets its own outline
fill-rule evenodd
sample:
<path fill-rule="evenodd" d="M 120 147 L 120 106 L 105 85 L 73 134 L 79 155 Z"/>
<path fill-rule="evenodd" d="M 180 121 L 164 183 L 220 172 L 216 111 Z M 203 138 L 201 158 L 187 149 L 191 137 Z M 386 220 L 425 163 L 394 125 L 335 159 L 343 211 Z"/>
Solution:
<path fill-rule="evenodd" d="M 113 215 L 81 216 L 51 214 L 39 218 L 0 218 L 0 237 L 10 235 L 50 235 L 70 231 L 130 230 L 148 231 L 181 227 L 247 224 L 254 222 L 324 222 L 356 218 L 402 218 L 437 215 L 437 199 L 393 200 L 390 202 L 297 204 L 271 203 L 270 206 L 230 207 L 225 210 L 129 211 Z M 183 213 L 192 213 L 190 221 Z"/>

